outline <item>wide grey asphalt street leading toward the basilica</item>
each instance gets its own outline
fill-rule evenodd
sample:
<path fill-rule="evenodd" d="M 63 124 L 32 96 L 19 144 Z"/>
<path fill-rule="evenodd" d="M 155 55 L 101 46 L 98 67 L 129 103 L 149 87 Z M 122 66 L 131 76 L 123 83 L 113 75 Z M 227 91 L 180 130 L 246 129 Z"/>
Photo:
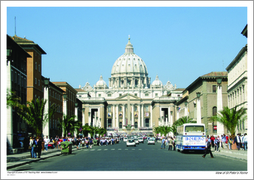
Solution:
<path fill-rule="evenodd" d="M 202 158 L 155 145 L 126 147 L 125 142 L 74 151 L 12 168 L 9 171 L 247 171 L 247 161 L 230 157 Z"/>

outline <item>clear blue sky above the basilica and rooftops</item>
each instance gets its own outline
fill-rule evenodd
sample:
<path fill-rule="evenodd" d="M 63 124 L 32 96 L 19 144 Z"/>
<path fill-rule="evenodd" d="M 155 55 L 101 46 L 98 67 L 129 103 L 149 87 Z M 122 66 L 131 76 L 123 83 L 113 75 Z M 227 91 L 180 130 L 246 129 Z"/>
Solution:
<path fill-rule="evenodd" d="M 72 87 L 92 86 L 111 69 L 128 35 L 151 81 L 186 88 L 226 67 L 247 43 L 247 7 L 8 7 L 7 34 L 47 53 L 42 75 Z"/>

